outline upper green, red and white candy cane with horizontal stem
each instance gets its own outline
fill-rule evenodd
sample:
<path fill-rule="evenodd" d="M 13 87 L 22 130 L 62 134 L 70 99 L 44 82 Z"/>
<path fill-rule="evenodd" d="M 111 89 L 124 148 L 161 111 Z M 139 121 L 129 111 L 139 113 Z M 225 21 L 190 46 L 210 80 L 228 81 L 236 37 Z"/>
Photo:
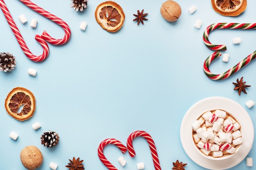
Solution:
<path fill-rule="evenodd" d="M 214 45 L 209 41 L 209 33 L 215 29 L 256 29 L 256 23 L 215 23 L 207 27 L 203 34 L 204 44 L 213 51 L 225 51 L 226 45 Z"/>

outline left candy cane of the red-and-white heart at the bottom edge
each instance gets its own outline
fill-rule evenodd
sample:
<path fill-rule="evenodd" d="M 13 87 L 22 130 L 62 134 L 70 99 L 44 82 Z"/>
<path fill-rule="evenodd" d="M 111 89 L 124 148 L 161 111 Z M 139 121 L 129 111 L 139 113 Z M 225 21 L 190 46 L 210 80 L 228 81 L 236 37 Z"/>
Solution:
<path fill-rule="evenodd" d="M 126 152 L 127 148 L 119 140 L 113 139 L 113 138 L 108 138 L 108 139 L 103 140 L 98 147 L 98 156 L 99 156 L 99 159 L 101 160 L 101 162 L 109 170 L 117 170 L 117 168 L 115 166 L 113 166 L 112 163 L 110 163 L 110 161 L 108 161 L 108 159 L 106 159 L 106 157 L 104 156 L 104 153 L 103 153 L 103 149 L 105 148 L 105 146 L 107 146 L 109 144 L 117 146 L 117 148 L 119 148 L 123 154 Z"/>

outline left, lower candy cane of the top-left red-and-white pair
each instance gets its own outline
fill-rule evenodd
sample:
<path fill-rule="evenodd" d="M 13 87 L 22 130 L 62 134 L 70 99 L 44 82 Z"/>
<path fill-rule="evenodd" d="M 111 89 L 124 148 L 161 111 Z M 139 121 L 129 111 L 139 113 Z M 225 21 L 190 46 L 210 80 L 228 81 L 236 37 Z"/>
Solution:
<path fill-rule="evenodd" d="M 16 26 L 16 24 L 11 16 L 11 13 L 9 12 L 6 4 L 4 3 L 4 0 L 0 0 L 0 8 L 2 9 L 2 11 L 4 13 L 4 17 L 6 18 L 9 26 L 11 27 L 11 30 L 13 31 L 13 33 L 20 45 L 20 48 L 25 53 L 25 55 L 30 60 L 32 60 L 34 62 L 42 62 L 43 60 L 45 60 L 49 55 L 49 47 L 48 47 L 47 43 L 45 42 L 45 40 L 40 35 L 36 35 L 35 39 L 43 47 L 43 53 L 38 56 L 31 53 L 31 51 L 27 47 L 27 44 L 25 43 L 24 39 L 22 38 L 22 35 L 20 34 L 18 27 Z"/>

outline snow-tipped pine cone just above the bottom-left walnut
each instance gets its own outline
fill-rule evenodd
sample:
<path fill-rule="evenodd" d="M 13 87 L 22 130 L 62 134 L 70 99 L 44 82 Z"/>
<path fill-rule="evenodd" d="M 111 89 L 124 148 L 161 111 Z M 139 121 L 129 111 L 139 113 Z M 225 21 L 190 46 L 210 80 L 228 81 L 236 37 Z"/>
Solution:
<path fill-rule="evenodd" d="M 58 144 L 58 141 L 59 141 L 58 133 L 52 132 L 52 130 L 49 130 L 48 132 L 44 132 L 44 134 L 42 134 L 40 139 L 41 139 L 41 144 L 44 146 L 47 146 L 47 148 L 49 147 L 53 148 Z"/>

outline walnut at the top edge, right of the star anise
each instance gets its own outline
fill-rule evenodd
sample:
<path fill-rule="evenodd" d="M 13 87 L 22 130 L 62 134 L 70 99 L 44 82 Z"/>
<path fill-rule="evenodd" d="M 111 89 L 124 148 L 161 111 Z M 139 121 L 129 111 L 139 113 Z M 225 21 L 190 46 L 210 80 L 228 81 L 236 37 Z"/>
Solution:
<path fill-rule="evenodd" d="M 181 7 L 177 2 L 173 0 L 168 0 L 162 4 L 162 7 L 160 8 L 160 12 L 162 17 L 166 21 L 174 22 L 181 15 Z"/>

